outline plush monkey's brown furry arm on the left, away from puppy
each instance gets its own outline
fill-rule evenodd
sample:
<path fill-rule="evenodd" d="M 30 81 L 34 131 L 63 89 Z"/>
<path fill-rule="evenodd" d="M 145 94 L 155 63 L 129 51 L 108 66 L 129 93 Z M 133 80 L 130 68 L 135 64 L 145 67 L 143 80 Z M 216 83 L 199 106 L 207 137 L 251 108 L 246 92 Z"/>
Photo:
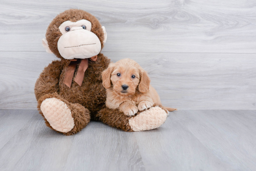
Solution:
<path fill-rule="evenodd" d="M 59 60 L 54 60 L 44 68 L 35 83 L 34 93 L 36 100 L 39 100 L 45 94 L 54 92 L 59 94 L 59 79 L 62 69 L 63 63 Z"/>

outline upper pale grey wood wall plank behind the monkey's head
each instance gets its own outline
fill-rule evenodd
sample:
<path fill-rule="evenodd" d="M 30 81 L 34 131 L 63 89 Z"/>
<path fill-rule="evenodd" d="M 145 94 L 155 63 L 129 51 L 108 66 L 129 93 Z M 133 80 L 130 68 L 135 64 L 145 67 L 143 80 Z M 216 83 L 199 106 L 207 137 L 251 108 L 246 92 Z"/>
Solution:
<path fill-rule="evenodd" d="M 47 26 L 69 8 L 106 27 L 103 52 L 256 53 L 254 0 L 1 0 L 0 51 L 44 51 Z"/>

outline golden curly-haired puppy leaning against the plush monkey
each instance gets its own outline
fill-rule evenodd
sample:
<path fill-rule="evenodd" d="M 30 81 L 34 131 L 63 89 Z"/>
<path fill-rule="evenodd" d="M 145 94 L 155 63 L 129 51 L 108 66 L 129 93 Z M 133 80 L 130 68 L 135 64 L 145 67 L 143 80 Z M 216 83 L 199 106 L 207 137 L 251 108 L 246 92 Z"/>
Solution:
<path fill-rule="evenodd" d="M 154 104 L 161 105 L 159 95 L 149 83 L 147 72 L 134 60 L 121 59 L 111 63 L 102 72 L 102 84 L 107 89 L 107 107 L 133 116 L 138 110 L 146 110 Z M 161 107 L 167 113 L 176 110 Z"/>

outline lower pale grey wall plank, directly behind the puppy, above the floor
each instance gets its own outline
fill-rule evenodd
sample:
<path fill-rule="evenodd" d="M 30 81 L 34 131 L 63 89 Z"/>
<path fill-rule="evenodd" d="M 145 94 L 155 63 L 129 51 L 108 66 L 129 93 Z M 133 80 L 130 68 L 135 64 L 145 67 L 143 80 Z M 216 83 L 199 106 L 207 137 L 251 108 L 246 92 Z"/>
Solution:
<path fill-rule="evenodd" d="M 236 53 L 104 53 L 135 59 L 149 74 L 163 105 L 179 110 L 256 110 L 256 58 Z M 34 84 L 54 55 L 2 52 L 0 109 L 36 109 Z"/>

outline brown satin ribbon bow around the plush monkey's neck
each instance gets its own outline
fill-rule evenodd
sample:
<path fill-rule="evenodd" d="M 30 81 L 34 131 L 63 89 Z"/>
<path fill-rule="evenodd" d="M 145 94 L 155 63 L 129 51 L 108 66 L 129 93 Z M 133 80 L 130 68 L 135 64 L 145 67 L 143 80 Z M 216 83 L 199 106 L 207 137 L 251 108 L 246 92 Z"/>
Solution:
<path fill-rule="evenodd" d="M 97 55 L 91 57 L 90 60 L 96 61 Z M 71 59 L 69 65 L 67 66 L 67 72 L 66 72 L 63 83 L 65 85 L 67 85 L 69 88 L 71 87 L 72 80 L 74 77 L 74 70 L 75 70 L 75 67 L 77 66 L 78 62 L 79 62 L 79 60 L 77 60 L 77 59 Z M 78 68 L 77 74 L 74 79 L 74 81 L 80 86 L 82 85 L 83 78 L 84 78 L 84 72 L 86 71 L 87 68 L 88 68 L 88 59 L 82 59 L 80 66 Z"/>

